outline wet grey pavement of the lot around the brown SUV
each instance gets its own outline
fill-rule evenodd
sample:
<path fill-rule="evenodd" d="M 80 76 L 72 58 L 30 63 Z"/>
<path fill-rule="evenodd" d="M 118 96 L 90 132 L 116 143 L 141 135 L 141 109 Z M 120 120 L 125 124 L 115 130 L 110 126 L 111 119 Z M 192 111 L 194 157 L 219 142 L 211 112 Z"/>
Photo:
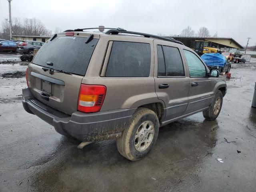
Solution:
<path fill-rule="evenodd" d="M 79 150 L 78 140 L 25 112 L 25 77 L 2 76 L 25 70 L 19 63 L 0 64 L 1 192 L 255 191 L 256 59 L 232 64 L 215 121 L 199 113 L 160 128 L 153 150 L 137 162 L 122 157 L 114 140 Z"/>

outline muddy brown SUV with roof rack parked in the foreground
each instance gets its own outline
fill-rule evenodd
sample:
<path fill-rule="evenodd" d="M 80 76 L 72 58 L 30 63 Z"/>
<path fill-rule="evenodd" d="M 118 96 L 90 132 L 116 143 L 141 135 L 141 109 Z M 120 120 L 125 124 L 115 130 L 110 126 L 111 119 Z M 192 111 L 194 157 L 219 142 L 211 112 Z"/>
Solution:
<path fill-rule="evenodd" d="M 67 30 L 28 65 L 24 109 L 81 141 L 116 139 L 130 160 L 146 156 L 160 126 L 203 112 L 218 117 L 226 82 L 174 39 Z"/>

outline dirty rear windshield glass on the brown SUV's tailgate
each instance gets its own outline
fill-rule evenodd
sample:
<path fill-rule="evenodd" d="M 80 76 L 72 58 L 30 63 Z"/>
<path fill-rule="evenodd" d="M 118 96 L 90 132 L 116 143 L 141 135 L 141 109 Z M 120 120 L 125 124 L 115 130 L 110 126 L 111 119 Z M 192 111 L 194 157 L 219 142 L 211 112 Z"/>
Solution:
<path fill-rule="evenodd" d="M 85 43 L 87 38 L 60 36 L 42 46 L 33 63 L 84 76 L 98 39 Z M 49 66 L 46 63 L 52 62 Z"/>

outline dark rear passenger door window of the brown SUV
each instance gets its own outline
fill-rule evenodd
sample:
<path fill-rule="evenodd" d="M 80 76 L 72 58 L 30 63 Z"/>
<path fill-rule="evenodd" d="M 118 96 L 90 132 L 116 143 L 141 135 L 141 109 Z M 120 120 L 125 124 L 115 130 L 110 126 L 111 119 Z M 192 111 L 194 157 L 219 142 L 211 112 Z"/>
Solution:
<path fill-rule="evenodd" d="M 178 48 L 158 45 L 157 55 L 158 76 L 185 76 Z"/>

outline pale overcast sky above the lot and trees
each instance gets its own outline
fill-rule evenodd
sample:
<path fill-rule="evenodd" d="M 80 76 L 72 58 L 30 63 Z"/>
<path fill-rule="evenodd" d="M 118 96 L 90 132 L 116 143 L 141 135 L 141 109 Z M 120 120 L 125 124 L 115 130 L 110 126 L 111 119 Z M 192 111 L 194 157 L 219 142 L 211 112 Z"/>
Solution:
<path fill-rule="evenodd" d="M 0 20 L 8 18 L 0 0 Z M 218 37 L 256 44 L 256 0 L 12 0 L 12 17 L 40 19 L 49 30 L 104 25 L 152 34 L 180 34 L 190 25 Z"/>

